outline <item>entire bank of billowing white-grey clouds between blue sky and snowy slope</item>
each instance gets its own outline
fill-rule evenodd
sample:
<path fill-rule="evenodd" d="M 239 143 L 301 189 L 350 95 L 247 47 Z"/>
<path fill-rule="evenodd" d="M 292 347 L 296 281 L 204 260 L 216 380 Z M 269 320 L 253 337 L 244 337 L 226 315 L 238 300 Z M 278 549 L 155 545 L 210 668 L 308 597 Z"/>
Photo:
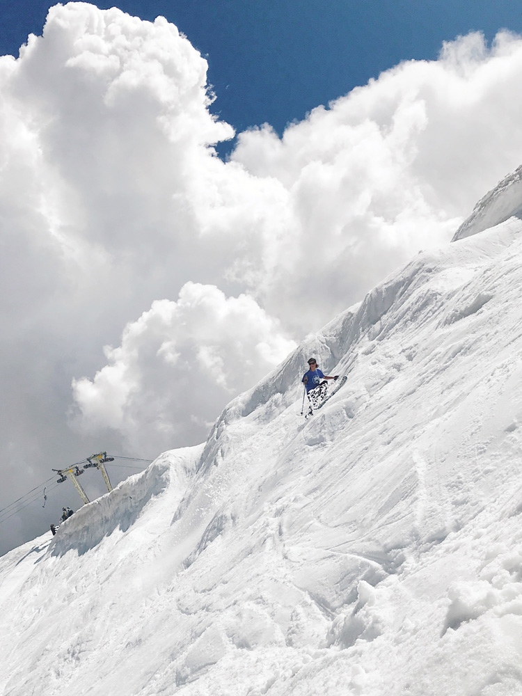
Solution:
<path fill-rule="evenodd" d="M 0 58 L 0 503 L 24 492 L 21 467 L 43 480 L 94 450 L 203 436 L 292 340 L 448 241 L 520 164 L 507 33 L 398 65 L 282 139 L 239 134 L 227 163 L 206 70 L 165 19 L 87 3 L 51 8 Z"/>

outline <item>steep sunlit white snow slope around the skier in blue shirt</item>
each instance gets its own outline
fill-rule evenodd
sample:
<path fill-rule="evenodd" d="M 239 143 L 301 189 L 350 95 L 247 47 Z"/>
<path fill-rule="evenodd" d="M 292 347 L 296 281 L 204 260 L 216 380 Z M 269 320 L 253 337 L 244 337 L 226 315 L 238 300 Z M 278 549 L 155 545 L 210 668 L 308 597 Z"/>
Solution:
<path fill-rule="evenodd" d="M 0 560 L 6 696 L 522 691 L 522 221 L 418 255 Z M 304 421 L 305 358 L 347 385 Z"/>

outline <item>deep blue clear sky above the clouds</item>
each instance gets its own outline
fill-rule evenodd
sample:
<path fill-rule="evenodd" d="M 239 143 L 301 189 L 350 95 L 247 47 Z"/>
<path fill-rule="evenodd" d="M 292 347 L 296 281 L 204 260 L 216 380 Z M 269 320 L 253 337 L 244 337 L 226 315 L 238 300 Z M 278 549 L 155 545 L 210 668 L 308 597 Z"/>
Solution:
<path fill-rule="evenodd" d="M 95 2 L 100 8 L 112 2 Z M 238 131 L 278 133 L 318 104 L 409 58 L 433 59 L 444 40 L 480 30 L 522 33 L 516 0 L 119 0 L 141 19 L 164 15 L 207 56 L 214 113 Z M 17 55 L 41 33 L 48 0 L 0 0 L 0 50 Z"/>

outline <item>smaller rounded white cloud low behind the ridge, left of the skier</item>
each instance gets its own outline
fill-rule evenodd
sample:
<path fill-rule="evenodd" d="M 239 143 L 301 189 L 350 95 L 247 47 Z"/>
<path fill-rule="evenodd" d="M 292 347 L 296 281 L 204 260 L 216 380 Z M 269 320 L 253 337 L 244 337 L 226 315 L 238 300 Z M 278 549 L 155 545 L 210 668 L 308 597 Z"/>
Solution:
<path fill-rule="evenodd" d="M 116 429 L 137 450 L 198 443 L 216 409 L 294 347 L 251 297 L 187 283 L 126 326 L 93 381 L 74 380 L 79 425 Z"/>

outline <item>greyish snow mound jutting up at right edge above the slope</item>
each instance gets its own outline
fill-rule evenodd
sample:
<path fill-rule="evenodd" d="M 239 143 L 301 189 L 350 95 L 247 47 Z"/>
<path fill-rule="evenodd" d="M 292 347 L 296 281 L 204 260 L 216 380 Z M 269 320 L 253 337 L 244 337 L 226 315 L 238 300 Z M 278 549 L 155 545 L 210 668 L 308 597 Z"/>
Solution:
<path fill-rule="evenodd" d="M 465 220 L 452 242 L 500 225 L 510 217 L 522 216 L 522 166 L 504 177 L 494 189 L 481 198 Z"/>

